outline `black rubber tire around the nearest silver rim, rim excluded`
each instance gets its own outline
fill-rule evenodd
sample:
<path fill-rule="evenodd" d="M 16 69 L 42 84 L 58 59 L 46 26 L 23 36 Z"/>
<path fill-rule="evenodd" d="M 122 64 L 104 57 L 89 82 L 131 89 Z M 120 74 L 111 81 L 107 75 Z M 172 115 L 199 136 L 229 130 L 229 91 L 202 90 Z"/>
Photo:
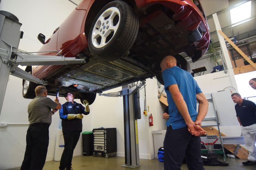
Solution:
<path fill-rule="evenodd" d="M 94 26 L 100 15 L 111 7 L 116 7 L 120 12 L 119 26 L 112 39 L 110 39 L 104 47 L 96 48 L 92 42 L 92 32 Z M 104 26 L 102 28 L 104 28 Z M 99 58 L 100 60 L 113 61 L 117 58 L 122 57 L 127 51 L 130 50 L 137 37 L 138 30 L 139 19 L 133 12 L 132 8 L 123 1 L 112 1 L 100 10 L 98 15 L 92 22 L 88 37 L 89 50 L 92 55 Z"/>

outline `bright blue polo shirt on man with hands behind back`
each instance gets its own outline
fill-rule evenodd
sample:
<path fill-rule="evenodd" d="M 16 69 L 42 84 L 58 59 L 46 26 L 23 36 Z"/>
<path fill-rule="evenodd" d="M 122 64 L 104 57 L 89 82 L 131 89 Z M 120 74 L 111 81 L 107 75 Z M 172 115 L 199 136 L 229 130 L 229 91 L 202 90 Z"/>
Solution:
<path fill-rule="evenodd" d="M 169 119 L 166 125 L 169 127 L 172 124 L 172 129 L 180 129 L 186 127 L 185 120 L 176 107 L 172 95 L 169 91 L 170 85 L 178 85 L 179 90 L 185 100 L 188 112 L 193 121 L 196 121 L 196 94 L 202 93 L 200 87 L 197 85 L 196 80 L 187 71 L 175 66 L 165 69 L 162 73 L 164 79 L 164 90 L 167 94 L 167 101 L 169 104 Z"/>

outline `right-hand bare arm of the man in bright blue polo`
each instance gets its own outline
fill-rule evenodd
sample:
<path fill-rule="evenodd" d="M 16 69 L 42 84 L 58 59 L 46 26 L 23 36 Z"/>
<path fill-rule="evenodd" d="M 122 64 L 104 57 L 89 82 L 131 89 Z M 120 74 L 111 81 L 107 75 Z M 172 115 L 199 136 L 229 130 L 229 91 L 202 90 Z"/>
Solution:
<path fill-rule="evenodd" d="M 196 94 L 196 100 L 198 101 L 199 105 L 198 105 L 198 115 L 196 117 L 195 123 L 198 123 L 198 125 L 201 126 L 201 122 L 204 120 L 204 117 L 208 112 L 209 103 L 203 93 Z"/>

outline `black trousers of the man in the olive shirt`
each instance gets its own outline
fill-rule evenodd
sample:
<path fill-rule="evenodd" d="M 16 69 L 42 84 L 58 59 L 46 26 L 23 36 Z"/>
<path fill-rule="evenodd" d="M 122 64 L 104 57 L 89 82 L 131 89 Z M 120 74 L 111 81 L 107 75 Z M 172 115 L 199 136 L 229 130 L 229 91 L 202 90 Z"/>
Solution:
<path fill-rule="evenodd" d="M 26 151 L 20 170 L 43 169 L 49 144 L 49 126 L 49 123 L 35 123 L 28 127 Z"/>

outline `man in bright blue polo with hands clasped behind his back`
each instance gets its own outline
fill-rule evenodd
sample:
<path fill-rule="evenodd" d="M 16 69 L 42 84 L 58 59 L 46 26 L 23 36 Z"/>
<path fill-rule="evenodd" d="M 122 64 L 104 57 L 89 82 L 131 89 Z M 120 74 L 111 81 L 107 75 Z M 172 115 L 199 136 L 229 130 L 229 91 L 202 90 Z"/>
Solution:
<path fill-rule="evenodd" d="M 176 66 L 173 56 L 161 61 L 164 88 L 169 104 L 169 119 L 164 138 L 164 169 L 180 169 L 186 155 L 188 169 L 204 170 L 201 139 L 206 131 L 201 122 L 208 111 L 208 101 L 195 79 Z M 199 102 L 198 114 L 196 100 Z"/>

